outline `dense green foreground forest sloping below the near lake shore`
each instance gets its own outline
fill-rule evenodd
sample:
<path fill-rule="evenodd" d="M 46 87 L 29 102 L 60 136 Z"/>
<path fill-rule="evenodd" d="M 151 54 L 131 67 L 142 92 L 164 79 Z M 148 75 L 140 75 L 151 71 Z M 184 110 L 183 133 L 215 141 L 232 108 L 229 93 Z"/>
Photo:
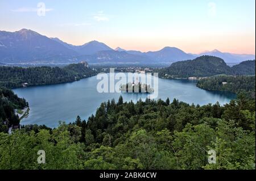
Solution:
<path fill-rule="evenodd" d="M 208 163 L 212 149 L 216 164 Z M 0 133 L 0 169 L 255 169 L 255 99 L 241 93 L 199 106 L 120 96 L 88 120 Z"/>

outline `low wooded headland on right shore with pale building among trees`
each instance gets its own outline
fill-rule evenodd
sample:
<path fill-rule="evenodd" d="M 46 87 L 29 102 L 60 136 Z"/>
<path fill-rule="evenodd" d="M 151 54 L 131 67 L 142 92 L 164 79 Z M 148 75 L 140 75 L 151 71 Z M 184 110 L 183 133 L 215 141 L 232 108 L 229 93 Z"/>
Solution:
<path fill-rule="evenodd" d="M 247 92 L 255 99 L 255 75 L 215 76 L 197 81 L 197 87 L 206 90 L 217 90 L 238 93 Z"/>

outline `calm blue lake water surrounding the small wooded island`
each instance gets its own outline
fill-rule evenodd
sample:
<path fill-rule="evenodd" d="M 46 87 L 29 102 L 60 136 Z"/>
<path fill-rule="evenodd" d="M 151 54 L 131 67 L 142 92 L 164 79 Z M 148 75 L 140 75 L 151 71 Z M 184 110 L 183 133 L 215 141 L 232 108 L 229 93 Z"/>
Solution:
<path fill-rule="evenodd" d="M 57 85 L 32 86 L 14 89 L 20 98 L 25 98 L 30 106 L 27 118 L 20 124 L 45 124 L 48 127 L 57 127 L 59 121 L 70 123 L 79 115 L 87 120 L 94 114 L 102 102 L 109 99 L 118 100 L 123 96 L 124 101 L 137 102 L 140 98 L 145 100 L 147 94 L 139 93 L 99 93 L 97 91 L 96 76 L 81 79 L 77 82 Z M 229 103 L 236 95 L 228 92 L 206 91 L 196 87 L 195 81 L 187 79 L 160 79 L 158 81 L 159 93 L 157 99 L 172 100 L 174 98 L 189 104 Z"/>

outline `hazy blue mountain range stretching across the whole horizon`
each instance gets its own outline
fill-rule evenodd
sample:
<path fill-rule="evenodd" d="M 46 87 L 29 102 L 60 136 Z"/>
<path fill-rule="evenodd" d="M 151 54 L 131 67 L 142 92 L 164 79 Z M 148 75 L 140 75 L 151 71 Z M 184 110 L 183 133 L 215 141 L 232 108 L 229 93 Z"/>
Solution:
<path fill-rule="evenodd" d="M 125 50 L 120 47 L 112 49 L 95 40 L 76 46 L 57 37 L 43 36 L 27 29 L 15 32 L 0 31 L 0 63 L 5 64 L 79 61 L 87 61 L 90 64 L 171 64 L 202 55 L 220 57 L 227 64 L 255 59 L 253 54 L 222 53 L 218 50 L 191 54 L 175 47 L 164 47 L 154 52 Z"/>

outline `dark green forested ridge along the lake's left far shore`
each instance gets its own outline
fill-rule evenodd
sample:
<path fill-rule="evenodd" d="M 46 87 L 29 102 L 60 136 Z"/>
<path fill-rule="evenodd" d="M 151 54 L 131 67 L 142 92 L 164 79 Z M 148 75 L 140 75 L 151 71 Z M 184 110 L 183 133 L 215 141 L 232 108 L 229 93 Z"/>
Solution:
<path fill-rule="evenodd" d="M 88 68 L 86 65 L 85 62 L 69 64 L 64 68 L 0 66 L 0 86 L 13 89 L 22 87 L 23 83 L 27 83 L 27 86 L 35 86 L 73 82 L 99 73 L 97 69 Z"/>

